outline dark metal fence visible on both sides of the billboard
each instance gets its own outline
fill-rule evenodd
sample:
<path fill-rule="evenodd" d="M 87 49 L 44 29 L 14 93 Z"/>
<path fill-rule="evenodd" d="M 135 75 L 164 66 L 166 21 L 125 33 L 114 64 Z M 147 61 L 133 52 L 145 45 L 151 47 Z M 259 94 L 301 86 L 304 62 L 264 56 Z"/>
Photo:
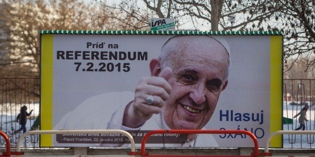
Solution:
<path fill-rule="evenodd" d="M 27 131 L 39 129 L 40 78 L 0 78 L 0 85 L 0 127 L 15 147 L 23 133 L 23 130 L 17 132 L 20 128 L 17 116 L 22 106 L 27 106 L 28 112 L 33 109 L 27 117 Z M 294 130 L 299 126 L 299 116 L 293 116 L 304 106 L 308 106 L 305 130 L 315 130 L 315 79 L 283 79 L 283 130 Z M 314 138 L 313 134 L 284 134 L 283 147 L 314 148 Z M 6 147 L 5 144 L 5 140 L 0 139 L 0 147 Z M 22 146 L 38 147 L 39 135 L 26 137 Z"/>

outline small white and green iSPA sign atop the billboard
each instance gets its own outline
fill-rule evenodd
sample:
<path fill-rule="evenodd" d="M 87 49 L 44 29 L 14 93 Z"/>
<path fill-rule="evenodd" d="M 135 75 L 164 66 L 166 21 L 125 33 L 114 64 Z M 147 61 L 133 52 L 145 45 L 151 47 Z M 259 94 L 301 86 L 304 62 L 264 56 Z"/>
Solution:
<path fill-rule="evenodd" d="M 151 30 L 174 30 L 174 18 L 151 18 Z"/>

